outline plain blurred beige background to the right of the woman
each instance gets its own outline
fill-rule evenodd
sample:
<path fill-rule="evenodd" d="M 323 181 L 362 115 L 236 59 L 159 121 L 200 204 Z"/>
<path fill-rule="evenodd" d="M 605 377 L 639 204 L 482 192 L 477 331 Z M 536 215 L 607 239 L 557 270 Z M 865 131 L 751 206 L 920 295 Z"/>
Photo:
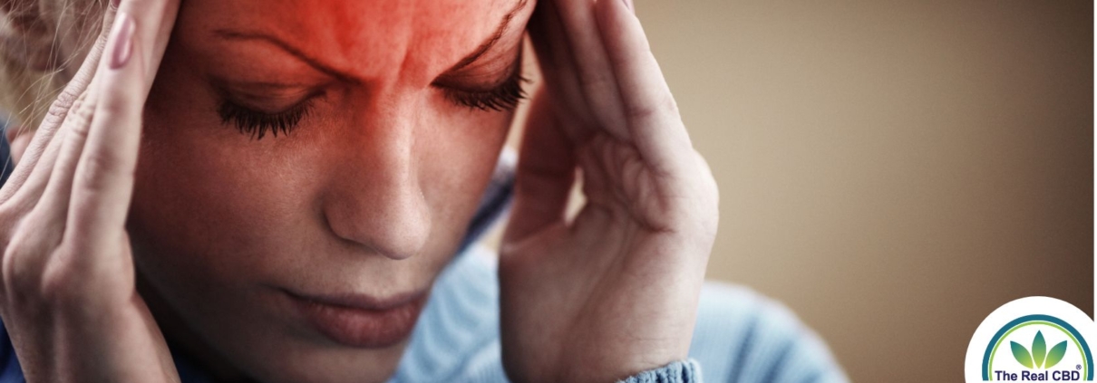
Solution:
<path fill-rule="evenodd" d="M 961 382 L 997 306 L 1093 313 L 1092 1 L 653 1 L 721 188 L 709 277 L 856 382 Z"/>

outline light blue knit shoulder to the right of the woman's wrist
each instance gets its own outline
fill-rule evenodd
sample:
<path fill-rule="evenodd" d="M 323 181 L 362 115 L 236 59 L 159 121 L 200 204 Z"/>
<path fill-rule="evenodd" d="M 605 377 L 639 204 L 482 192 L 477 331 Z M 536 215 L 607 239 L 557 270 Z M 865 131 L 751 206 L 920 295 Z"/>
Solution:
<path fill-rule="evenodd" d="M 706 281 L 690 358 L 709 383 L 847 382 L 826 344 L 783 304 Z"/>

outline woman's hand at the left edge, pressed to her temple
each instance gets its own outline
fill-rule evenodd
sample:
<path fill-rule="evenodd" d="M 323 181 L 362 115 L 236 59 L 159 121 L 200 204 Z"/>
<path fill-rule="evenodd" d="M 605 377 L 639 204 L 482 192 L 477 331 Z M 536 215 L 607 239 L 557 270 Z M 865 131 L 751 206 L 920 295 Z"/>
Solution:
<path fill-rule="evenodd" d="M 179 381 L 125 231 L 142 111 L 179 0 L 108 8 L 0 188 L 0 316 L 30 382 Z"/>

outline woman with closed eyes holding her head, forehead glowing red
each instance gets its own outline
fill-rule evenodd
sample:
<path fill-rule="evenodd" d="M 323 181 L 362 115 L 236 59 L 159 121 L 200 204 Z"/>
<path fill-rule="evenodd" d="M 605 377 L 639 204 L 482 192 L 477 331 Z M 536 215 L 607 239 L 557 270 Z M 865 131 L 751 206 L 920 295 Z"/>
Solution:
<path fill-rule="evenodd" d="M 68 83 L 9 129 L 5 379 L 844 380 L 704 286 L 715 184 L 630 3 L 2 4 L 5 84 Z M 496 263 L 470 244 L 511 195 Z"/>

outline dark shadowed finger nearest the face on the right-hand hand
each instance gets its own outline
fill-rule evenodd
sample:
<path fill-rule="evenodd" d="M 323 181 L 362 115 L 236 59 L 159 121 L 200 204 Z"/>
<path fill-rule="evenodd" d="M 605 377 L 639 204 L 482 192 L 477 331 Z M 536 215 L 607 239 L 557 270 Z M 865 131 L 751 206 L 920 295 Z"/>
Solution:
<path fill-rule="evenodd" d="M 596 124 L 590 118 L 590 105 L 583 96 L 579 77 L 576 74 L 572 46 L 564 34 L 563 22 L 552 1 L 540 1 L 528 26 L 530 40 L 538 53 L 538 63 L 544 78 L 545 88 L 553 97 L 555 107 L 567 111 L 563 116 L 569 120 L 558 120 L 568 137 L 580 137 L 581 127 Z"/>

